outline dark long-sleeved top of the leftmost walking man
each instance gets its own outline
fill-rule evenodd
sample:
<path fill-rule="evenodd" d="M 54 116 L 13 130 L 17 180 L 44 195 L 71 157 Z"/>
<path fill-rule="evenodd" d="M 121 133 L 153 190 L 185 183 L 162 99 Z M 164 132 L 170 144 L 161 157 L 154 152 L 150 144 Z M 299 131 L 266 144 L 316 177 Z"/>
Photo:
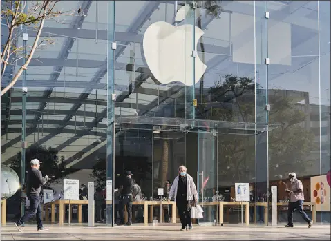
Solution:
<path fill-rule="evenodd" d="M 31 168 L 26 175 L 25 191 L 27 195 L 40 195 L 41 186 L 44 186 L 47 179 L 43 177 L 41 171 L 36 168 Z"/>

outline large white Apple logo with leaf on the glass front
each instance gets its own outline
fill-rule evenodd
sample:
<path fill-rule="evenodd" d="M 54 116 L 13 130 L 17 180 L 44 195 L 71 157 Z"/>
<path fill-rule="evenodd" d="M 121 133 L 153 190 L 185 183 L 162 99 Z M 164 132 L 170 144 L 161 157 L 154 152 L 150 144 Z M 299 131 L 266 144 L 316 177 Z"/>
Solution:
<path fill-rule="evenodd" d="M 176 22 L 185 19 L 188 8 L 182 6 L 178 10 L 175 17 Z M 204 32 L 197 26 L 194 28 L 194 45 L 197 46 L 198 39 Z M 158 21 L 146 29 L 142 41 L 144 61 L 149 66 L 149 70 L 153 74 L 152 79 L 156 84 L 169 84 L 178 81 L 187 86 L 193 85 L 192 44 L 192 24 L 173 26 L 170 23 Z M 196 84 L 205 73 L 207 66 L 202 63 L 198 56 L 194 57 L 194 60 Z"/>

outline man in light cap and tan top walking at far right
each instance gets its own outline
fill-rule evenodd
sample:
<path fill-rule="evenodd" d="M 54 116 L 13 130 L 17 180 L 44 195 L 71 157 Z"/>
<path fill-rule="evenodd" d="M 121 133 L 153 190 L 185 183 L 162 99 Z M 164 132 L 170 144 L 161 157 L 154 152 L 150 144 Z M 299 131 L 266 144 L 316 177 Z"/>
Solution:
<path fill-rule="evenodd" d="M 308 228 L 312 227 L 312 220 L 308 218 L 307 213 L 303 211 L 303 201 L 305 197 L 303 195 L 303 185 L 300 180 L 296 178 L 296 173 L 289 173 L 288 178 L 290 180 L 290 189 L 286 189 L 287 193 L 290 193 L 290 202 L 288 204 L 287 220 L 288 224 L 286 228 L 293 227 L 293 213 L 298 210 L 305 222 L 308 223 Z"/>

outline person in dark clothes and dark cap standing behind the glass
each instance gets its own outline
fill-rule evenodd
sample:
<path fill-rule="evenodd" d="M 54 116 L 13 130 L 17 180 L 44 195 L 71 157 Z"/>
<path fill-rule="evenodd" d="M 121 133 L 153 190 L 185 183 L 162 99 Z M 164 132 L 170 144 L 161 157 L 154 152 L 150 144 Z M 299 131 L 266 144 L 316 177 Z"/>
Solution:
<path fill-rule="evenodd" d="M 126 176 L 124 177 L 122 186 L 122 192 L 120 196 L 119 203 L 119 212 L 120 212 L 120 223 L 118 226 L 124 225 L 124 206 L 126 206 L 126 211 L 128 212 L 128 222 L 126 222 L 126 226 L 131 226 L 132 224 L 132 202 L 133 202 L 133 184 L 135 182 L 131 179 L 132 173 L 131 171 L 126 171 Z"/>

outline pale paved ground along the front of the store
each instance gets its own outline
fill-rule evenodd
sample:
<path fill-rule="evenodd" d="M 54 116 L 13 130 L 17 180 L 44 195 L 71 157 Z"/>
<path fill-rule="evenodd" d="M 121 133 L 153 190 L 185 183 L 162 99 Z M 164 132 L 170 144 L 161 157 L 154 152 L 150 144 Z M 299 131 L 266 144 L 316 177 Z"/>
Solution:
<path fill-rule="evenodd" d="M 283 226 L 194 226 L 191 231 L 179 231 L 180 226 L 48 226 L 50 231 L 38 233 L 28 224 L 23 233 L 13 224 L 1 227 L 1 240 L 330 240 L 330 225 Z"/>

